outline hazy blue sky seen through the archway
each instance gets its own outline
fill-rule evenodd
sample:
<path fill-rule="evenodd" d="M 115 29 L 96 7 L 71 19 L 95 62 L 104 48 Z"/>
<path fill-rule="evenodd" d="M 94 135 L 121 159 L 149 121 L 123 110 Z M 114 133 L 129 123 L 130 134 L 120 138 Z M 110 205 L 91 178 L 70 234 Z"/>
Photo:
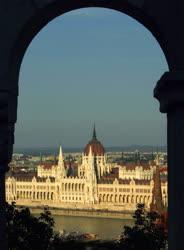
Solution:
<path fill-rule="evenodd" d="M 108 9 L 66 13 L 30 44 L 19 79 L 16 147 L 165 145 L 153 88 L 168 70 L 151 33 Z"/>

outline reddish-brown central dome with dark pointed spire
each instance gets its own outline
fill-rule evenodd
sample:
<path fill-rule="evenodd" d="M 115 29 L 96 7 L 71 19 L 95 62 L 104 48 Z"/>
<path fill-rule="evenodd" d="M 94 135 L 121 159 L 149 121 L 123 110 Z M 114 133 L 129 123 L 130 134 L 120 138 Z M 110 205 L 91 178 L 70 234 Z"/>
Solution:
<path fill-rule="evenodd" d="M 103 145 L 101 144 L 100 141 L 97 140 L 95 126 L 93 130 L 93 137 L 84 148 L 85 155 L 89 155 L 90 147 L 93 155 L 95 156 L 103 156 L 105 154 L 105 149 Z"/>

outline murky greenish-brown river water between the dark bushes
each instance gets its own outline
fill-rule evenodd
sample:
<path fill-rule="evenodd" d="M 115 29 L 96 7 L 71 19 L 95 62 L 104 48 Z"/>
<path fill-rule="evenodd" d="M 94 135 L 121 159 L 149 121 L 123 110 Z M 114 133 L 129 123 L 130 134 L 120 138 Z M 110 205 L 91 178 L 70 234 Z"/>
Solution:
<path fill-rule="evenodd" d="M 55 229 L 66 230 L 67 232 L 79 231 L 81 233 L 97 234 L 101 239 L 114 239 L 123 231 L 125 225 L 133 225 L 133 220 L 77 217 L 53 215 Z"/>

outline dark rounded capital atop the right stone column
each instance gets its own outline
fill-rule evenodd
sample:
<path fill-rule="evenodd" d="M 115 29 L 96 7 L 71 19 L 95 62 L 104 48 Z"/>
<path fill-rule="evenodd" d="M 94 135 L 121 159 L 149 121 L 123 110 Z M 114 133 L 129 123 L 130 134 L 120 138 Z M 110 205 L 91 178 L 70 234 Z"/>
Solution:
<path fill-rule="evenodd" d="M 184 107 L 184 71 L 166 72 L 154 89 L 154 97 L 160 102 L 160 112 Z"/>

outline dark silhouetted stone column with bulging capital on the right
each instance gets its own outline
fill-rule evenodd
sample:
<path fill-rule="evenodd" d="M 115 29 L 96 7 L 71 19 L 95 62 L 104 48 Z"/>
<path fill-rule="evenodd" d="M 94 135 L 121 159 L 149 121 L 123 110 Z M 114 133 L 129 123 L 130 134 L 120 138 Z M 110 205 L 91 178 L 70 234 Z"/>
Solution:
<path fill-rule="evenodd" d="M 167 113 L 169 249 L 184 249 L 184 71 L 166 72 L 154 97 Z"/>

